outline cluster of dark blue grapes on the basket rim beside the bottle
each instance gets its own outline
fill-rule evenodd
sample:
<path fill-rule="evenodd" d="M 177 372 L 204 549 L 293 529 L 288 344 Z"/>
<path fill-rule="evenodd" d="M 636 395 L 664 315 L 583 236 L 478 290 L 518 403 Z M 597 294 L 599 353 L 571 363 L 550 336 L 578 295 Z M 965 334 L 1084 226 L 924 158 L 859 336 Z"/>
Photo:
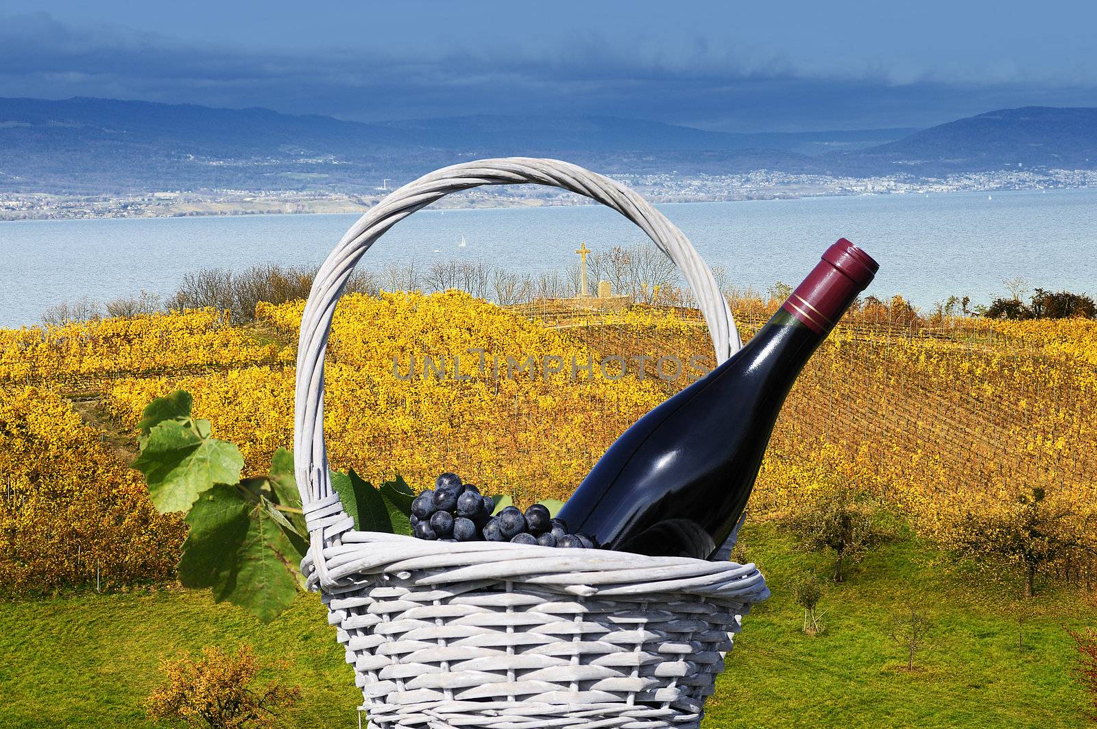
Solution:
<path fill-rule="evenodd" d="M 542 504 L 522 511 L 508 506 L 497 515 L 495 502 L 454 473 L 443 473 L 411 502 L 411 534 L 441 541 L 512 541 L 542 547 L 591 548 L 590 537 L 568 534 Z"/>

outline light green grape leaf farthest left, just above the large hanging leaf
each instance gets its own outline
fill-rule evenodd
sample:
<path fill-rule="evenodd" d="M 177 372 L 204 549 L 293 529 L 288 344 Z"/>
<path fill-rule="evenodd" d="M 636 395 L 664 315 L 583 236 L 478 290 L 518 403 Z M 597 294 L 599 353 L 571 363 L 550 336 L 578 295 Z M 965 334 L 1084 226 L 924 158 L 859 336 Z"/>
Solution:
<path fill-rule="evenodd" d="M 230 442 L 202 437 L 179 420 L 161 420 L 149 429 L 133 467 L 145 474 L 161 513 L 184 512 L 215 483 L 237 483 L 244 457 Z"/>

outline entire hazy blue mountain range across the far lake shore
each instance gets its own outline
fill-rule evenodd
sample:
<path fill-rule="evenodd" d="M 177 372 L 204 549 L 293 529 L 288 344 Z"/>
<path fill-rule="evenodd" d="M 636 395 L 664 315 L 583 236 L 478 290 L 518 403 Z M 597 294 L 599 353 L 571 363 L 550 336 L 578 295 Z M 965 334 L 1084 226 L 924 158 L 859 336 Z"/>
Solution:
<path fill-rule="evenodd" d="M 609 116 L 463 116 L 365 124 L 267 109 L 0 99 L 0 192 L 372 190 L 477 157 L 608 172 L 833 175 L 1097 168 L 1097 109 L 1032 106 L 928 130 L 728 134 Z"/>

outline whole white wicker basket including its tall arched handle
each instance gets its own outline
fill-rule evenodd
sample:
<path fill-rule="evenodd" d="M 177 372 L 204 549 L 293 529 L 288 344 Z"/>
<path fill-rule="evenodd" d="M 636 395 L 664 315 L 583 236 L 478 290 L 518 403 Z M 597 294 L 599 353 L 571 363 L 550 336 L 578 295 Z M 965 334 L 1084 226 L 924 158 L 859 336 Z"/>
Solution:
<path fill-rule="evenodd" d="M 324 354 L 354 265 L 392 225 L 443 195 L 532 182 L 636 223 L 679 267 L 723 361 L 739 347 L 712 272 L 640 195 L 548 159 L 488 159 L 431 172 L 359 220 L 320 267 L 297 349 L 295 462 L 309 553 L 375 729 L 698 727 L 743 615 L 769 596 L 753 564 L 355 531 L 324 446 Z"/>

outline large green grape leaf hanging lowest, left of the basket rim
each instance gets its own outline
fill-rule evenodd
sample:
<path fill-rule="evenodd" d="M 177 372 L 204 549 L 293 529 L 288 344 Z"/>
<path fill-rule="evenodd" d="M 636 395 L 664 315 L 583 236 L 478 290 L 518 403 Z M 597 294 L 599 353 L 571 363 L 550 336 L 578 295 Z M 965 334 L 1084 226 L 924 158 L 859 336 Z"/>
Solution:
<path fill-rule="evenodd" d="M 186 524 L 179 562 L 183 585 L 211 587 L 216 602 L 245 607 L 263 623 L 290 606 L 299 584 L 297 550 L 271 502 L 217 484 L 199 496 Z"/>

